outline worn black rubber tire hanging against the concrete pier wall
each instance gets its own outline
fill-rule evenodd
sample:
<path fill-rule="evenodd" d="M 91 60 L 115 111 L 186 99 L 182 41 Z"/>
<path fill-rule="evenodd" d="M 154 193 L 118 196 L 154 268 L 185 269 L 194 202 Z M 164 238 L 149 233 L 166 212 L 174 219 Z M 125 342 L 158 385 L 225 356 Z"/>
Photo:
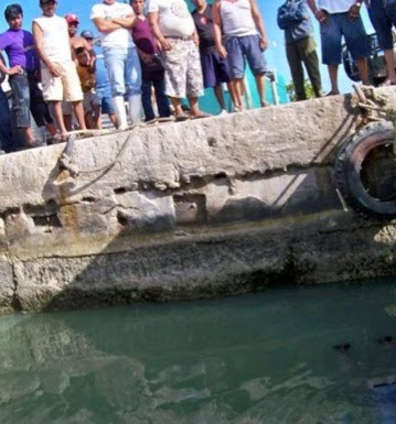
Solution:
<path fill-rule="evenodd" d="M 368 153 L 373 149 L 393 142 L 393 123 L 373 122 L 343 145 L 335 161 L 335 184 L 347 205 L 364 216 L 387 219 L 396 217 L 396 198 L 382 202 L 372 197 L 361 180 L 362 163 Z"/>

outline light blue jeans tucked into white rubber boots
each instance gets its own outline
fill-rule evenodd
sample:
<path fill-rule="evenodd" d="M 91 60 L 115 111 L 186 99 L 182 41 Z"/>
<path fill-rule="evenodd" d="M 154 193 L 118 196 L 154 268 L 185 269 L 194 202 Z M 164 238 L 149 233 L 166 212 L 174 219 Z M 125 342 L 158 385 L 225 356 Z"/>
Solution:
<path fill-rule="evenodd" d="M 111 96 L 140 95 L 141 68 L 136 47 L 104 48 L 105 66 L 111 86 Z"/>

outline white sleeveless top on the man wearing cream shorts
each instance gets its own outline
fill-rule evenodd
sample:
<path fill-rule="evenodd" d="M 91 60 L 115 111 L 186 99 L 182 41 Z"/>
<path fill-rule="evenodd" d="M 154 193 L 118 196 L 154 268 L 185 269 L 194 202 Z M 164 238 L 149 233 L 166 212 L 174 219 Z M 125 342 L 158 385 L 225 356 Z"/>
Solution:
<path fill-rule="evenodd" d="M 46 57 L 57 63 L 72 61 L 66 20 L 55 14 L 36 18 L 33 22 L 43 31 L 43 50 Z"/>

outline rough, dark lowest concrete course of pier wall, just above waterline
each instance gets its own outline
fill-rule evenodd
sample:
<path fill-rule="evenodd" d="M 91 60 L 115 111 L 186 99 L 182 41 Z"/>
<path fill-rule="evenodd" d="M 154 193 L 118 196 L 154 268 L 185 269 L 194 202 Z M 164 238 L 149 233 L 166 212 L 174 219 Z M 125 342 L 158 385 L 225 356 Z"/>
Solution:
<path fill-rule="evenodd" d="M 394 274 L 395 225 L 353 225 L 353 215 L 338 216 L 293 227 L 186 236 L 107 254 L 18 262 L 18 303 L 22 309 L 43 311 L 164 302 L 245 293 L 268 284 Z M 349 222 L 361 230 L 347 233 Z M 340 238 L 342 228 L 347 237 Z"/>

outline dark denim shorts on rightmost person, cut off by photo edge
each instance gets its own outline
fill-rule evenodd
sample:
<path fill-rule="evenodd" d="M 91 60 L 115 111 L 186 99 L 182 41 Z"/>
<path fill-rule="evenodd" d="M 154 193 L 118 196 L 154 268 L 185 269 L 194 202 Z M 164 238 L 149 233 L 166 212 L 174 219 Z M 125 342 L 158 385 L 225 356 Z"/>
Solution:
<path fill-rule="evenodd" d="M 371 0 L 368 15 L 377 33 L 379 47 L 392 50 L 392 26 L 396 26 L 396 0 Z"/>

